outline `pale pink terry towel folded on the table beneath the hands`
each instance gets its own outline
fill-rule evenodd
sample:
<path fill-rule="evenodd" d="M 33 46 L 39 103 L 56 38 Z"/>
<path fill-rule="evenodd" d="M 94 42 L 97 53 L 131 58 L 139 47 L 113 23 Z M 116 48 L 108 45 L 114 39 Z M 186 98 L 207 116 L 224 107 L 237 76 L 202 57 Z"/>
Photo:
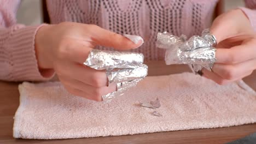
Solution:
<path fill-rule="evenodd" d="M 73 96 L 60 82 L 24 82 L 19 91 L 15 138 L 132 135 L 256 122 L 256 93 L 246 83 L 219 86 L 191 73 L 146 77 L 110 103 Z M 161 103 L 158 109 L 139 105 L 156 98 Z"/>

